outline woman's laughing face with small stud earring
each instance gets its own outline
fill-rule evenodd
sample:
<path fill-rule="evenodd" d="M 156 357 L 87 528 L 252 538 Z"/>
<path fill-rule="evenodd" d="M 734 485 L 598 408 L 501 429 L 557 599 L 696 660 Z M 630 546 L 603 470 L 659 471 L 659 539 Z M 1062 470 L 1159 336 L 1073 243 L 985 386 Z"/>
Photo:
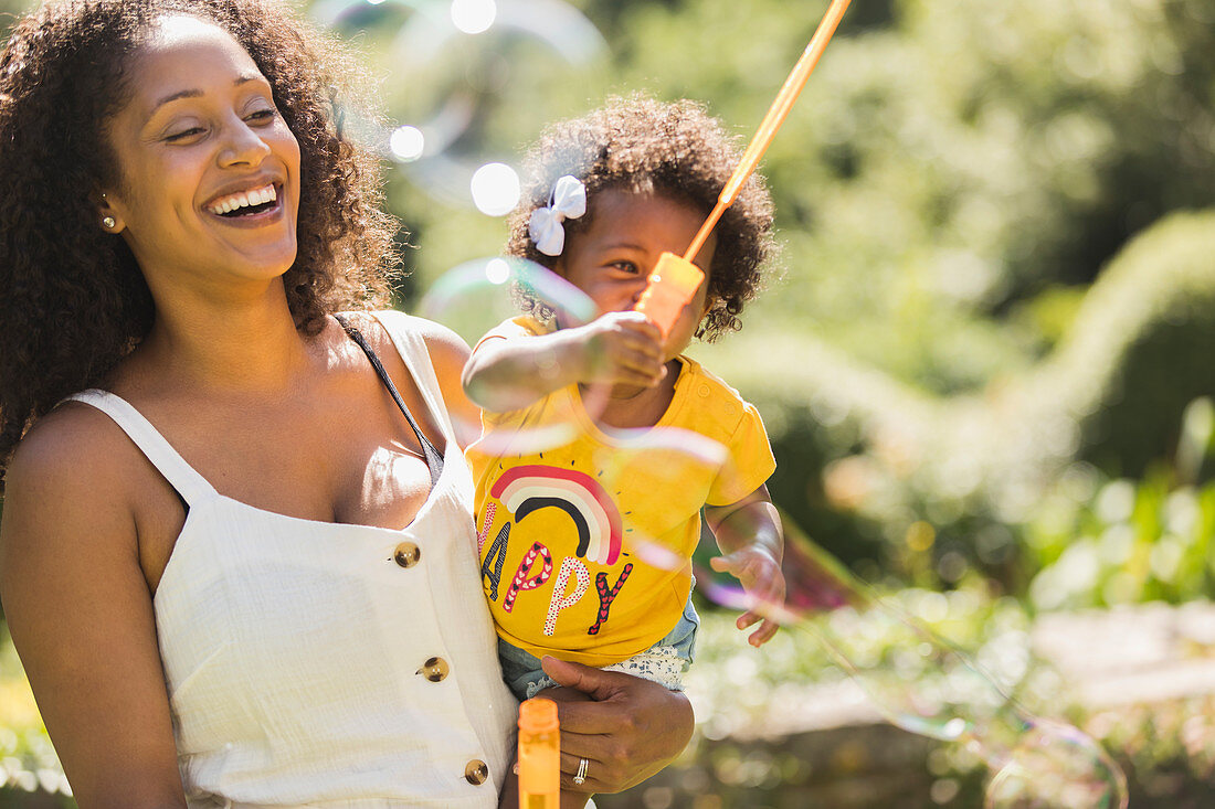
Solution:
<path fill-rule="evenodd" d="M 119 182 L 101 213 L 153 292 L 282 275 L 295 261 L 300 149 L 249 53 L 211 23 L 166 17 L 129 86 L 107 128 Z"/>

